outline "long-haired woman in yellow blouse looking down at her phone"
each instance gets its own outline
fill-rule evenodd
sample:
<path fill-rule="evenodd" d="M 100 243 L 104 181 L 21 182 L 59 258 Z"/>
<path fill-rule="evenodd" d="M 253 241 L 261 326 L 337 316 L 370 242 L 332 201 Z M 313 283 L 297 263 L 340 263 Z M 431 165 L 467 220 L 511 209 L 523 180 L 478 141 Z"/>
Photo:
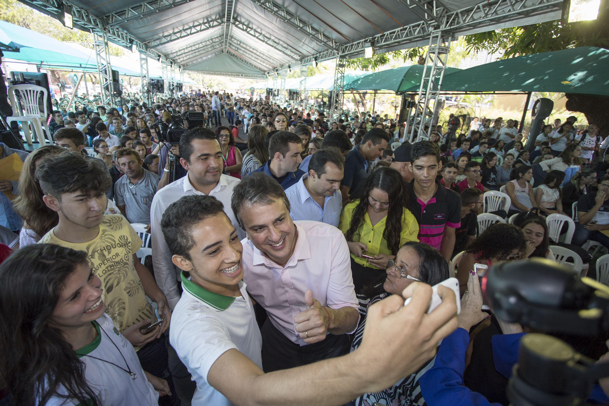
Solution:
<path fill-rule="evenodd" d="M 418 241 L 418 223 L 408 201 L 401 174 L 382 167 L 368 176 L 361 198 L 345 205 L 339 229 L 351 252 L 356 293 L 384 273 L 403 244 Z"/>

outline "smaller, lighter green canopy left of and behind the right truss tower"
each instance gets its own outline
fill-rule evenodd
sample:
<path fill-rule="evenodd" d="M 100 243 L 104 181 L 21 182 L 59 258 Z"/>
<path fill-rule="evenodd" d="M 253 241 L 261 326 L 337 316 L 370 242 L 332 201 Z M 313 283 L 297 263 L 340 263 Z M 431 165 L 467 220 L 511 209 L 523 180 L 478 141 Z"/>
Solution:
<path fill-rule="evenodd" d="M 371 73 L 354 80 L 345 86 L 345 90 L 392 90 L 395 93 L 401 93 L 412 86 L 416 86 L 418 90 L 421 85 L 423 68 L 423 65 L 412 65 Z M 444 74 L 446 76 L 460 70 L 446 68 Z"/>

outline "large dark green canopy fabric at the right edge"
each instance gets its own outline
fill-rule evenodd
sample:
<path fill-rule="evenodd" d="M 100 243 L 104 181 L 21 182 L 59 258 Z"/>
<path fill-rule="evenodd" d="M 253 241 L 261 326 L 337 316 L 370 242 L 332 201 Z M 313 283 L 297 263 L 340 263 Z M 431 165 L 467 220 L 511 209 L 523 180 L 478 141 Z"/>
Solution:
<path fill-rule="evenodd" d="M 552 91 L 609 96 L 609 51 L 593 46 L 502 59 L 445 74 L 442 91 Z M 418 91 L 418 86 L 406 92 Z"/>

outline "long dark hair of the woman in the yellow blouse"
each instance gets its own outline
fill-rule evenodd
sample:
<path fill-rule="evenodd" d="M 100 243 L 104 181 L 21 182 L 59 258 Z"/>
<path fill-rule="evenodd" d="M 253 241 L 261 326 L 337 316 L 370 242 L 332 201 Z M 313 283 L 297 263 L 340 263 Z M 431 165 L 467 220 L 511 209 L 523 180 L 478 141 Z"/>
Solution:
<path fill-rule="evenodd" d="M 420 141 L 430 142 L 430 141 Z M 415 144 L 417 145 L 417 144 Z M 436 145 L 437 148 L 437 145 Z M 389 196 L 389 209 L 387 210 L 387 221 L 382 237 L 387 241 L 387 248 L 392 255 L 396 255 L 400 249 L 400 234 L 402 232 L 402 215 L 409 208 L 409 198 L 404 179 L 401 174 L 393 168 L 381 167 L 372 171 L 364 183 L 361 198 L 357 202 L 351 216 L 350 226 L 345 233 L 347 241 L 356 241 L 361 237 L 360 230 L 364 226 L 364 217 L 368 210 L 368 196 L 374 188 L 385 191 Z"/>

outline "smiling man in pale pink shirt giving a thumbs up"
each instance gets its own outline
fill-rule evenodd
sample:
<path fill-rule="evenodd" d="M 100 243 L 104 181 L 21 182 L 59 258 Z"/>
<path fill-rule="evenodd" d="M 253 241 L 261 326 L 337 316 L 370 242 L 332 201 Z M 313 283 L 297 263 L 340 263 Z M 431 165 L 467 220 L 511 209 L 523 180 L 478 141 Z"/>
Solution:
<path fill-rule="evenodd" d="M 231 207 L 245 230 L 247 291 L 266 310 L 265 372 L 347 354 L 359 321 L 347 241 L 336 227 L 292 221 L 283 188 L 252 174 L 233 191 Z"/>

